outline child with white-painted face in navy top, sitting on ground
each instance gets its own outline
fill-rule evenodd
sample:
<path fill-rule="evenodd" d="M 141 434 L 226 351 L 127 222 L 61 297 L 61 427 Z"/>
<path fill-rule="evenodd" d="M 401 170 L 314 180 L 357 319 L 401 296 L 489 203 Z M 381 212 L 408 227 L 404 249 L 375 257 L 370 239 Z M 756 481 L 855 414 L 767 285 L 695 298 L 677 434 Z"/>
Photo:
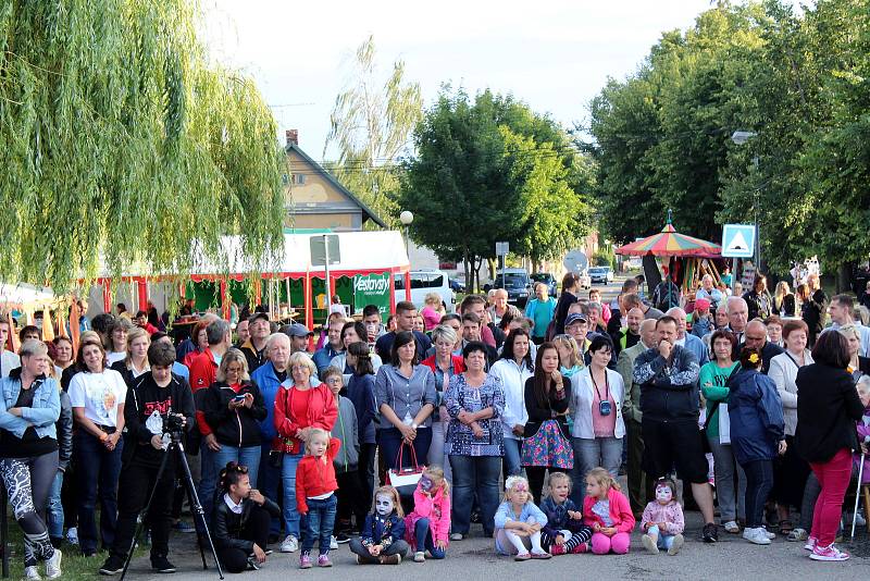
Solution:
<path fill-rule="evenodd" d="M 399 493 L 381 486 L 374 493 L 374 512 L 365 517 L 360 536 L 350 540 L 350 551 L 359 565 L 398 565 L 408 555 L 405 520 Z"/>

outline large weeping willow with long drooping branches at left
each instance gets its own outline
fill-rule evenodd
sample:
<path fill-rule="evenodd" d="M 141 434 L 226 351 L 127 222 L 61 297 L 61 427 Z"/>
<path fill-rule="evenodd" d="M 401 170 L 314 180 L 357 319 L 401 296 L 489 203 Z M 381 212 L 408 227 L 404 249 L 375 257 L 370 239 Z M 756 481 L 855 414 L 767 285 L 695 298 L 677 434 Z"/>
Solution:
<path fill-rule="evenodd" d="M 283 154 L 253 84 L 210 63 L 188 0 L 0 8 L 0 277 L 67 288 L 102 260 L 187 272 L 277 248 Z"/>

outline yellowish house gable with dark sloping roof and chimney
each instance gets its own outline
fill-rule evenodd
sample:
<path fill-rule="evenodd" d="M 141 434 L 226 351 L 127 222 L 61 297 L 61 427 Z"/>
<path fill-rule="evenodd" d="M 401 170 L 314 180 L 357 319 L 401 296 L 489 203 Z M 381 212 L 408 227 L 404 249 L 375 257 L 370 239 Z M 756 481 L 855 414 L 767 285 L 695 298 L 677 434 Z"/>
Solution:
<path fill-rule="evenodd" d="M 286 133 L 290 175 L 284 176 L 287 217 L 284 225 L 296 230 L 359 232 L 371 220 L 386 224 L 352 191 L 299 148 L 299 133 Z"/>

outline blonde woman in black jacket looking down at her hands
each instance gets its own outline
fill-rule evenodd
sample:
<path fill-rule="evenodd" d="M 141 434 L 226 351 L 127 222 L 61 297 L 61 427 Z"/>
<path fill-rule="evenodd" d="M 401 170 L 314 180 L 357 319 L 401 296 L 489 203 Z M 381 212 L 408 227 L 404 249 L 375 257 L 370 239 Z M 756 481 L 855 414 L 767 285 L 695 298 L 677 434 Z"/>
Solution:
<path fill-rule="evenodd" d="M 247 466 L 252 482 L 260 468 L 260 422 L 266 417 L 260 388 L 248 375 L 248 360 L 236 348 L 227 350 L 214 383 L 202 396 L 202 412 L 221 449 L 213 452 L 215 473 L 228 462 Z"/>

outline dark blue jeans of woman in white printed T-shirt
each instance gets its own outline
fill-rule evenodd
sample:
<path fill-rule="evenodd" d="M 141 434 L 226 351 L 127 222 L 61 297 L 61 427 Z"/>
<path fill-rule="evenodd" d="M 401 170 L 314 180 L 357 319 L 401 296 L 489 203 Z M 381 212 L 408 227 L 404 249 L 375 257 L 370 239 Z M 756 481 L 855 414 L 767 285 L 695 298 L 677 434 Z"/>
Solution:
<path fill-rule="evenodd" d="M 105 449 L 97 437 L 78 430 L 73 443 L 78 474 L 78 546 L 82 553 L 97 551 L 97 541 L 102 546 L 112 546 L 117 526 L 117 480 L 121 477 L 121 455 L 124 440 L 117 441 L 112 452 Z M 97 537 L 95 511 L 100 500 L 100 539 Z"/>

